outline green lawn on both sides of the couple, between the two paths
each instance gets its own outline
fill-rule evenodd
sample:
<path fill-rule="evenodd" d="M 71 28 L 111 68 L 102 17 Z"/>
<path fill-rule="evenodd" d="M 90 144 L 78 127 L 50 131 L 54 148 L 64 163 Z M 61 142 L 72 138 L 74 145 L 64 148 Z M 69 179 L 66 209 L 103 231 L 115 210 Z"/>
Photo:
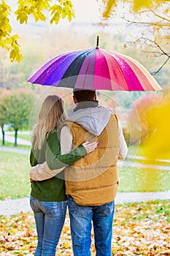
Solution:
<path fill-rule="evenodd" d="M 1 151 L 0 162 L 0 200 L 28 196 L 29 155 Z M 119 192 L 167 191 L 170 173 L 168 170 L 128 167 L 119 170 L 119 180 Z"/>

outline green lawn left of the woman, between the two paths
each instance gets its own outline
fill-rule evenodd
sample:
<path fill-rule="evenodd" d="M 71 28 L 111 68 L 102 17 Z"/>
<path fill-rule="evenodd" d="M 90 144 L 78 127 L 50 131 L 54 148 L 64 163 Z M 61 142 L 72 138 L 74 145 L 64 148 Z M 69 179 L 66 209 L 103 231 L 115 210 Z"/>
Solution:
<path fill-rule="evenodd" d="M 29 156 L 1 151 L 0 199 L 29 195 Z"/>

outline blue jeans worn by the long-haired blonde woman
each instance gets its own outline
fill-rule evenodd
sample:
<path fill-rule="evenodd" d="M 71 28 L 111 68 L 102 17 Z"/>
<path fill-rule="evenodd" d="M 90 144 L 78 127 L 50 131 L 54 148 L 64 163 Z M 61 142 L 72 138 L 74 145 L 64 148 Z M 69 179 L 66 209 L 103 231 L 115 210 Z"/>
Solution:
<path fill-rule="evenodd" d="M 66 217 L 67 201 L 44 202 L 30 197 L 30 206 L 34 211 L 38 235 L 35 256 L 53 256 Z"/>

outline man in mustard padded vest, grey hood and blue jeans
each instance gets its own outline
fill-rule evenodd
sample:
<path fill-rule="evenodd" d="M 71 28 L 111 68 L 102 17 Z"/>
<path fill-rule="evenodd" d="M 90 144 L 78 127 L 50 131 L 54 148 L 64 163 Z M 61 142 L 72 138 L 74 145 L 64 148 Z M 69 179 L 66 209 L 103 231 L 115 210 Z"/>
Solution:
<path fill-rule="evenodd" d="M 75 89 L 73 100 L 76 108 L 61 129 L 61 154 L 87 140 L 99 143 L 95 151 L 64 170 L 73 252 L 90 255 L 93 223 L 96 255 L 111 256 L 117 159 L 126 157 L 127 146 L 117 116 L 98 106 L 96 91 Z"/>

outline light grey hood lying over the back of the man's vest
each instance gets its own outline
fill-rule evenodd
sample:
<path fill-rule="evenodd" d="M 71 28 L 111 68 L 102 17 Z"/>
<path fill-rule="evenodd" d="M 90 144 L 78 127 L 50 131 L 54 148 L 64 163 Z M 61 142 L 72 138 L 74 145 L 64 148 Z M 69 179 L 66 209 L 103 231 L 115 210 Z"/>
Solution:
<path fill-rule="evenodd" d="M 71 113 L 67 120 L 80 124 L 88 132 L 98 136 L 107 126 L 111 114 L 112 110 L 110 108 L 101 106 L 82 108 Z"/>

